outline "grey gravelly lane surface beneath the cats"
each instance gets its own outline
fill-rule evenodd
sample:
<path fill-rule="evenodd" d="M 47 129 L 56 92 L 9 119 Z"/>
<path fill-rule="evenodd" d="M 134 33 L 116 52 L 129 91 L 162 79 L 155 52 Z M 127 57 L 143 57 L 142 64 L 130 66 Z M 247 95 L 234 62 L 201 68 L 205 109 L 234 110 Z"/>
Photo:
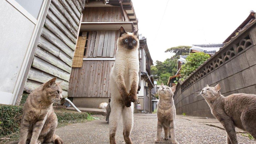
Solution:
<path fill-rule="evenodd" d="M 100 120 L 93 120 L 86 123 L 71 124 L 56 130 L 56 133 L 63 138 L 65 143 L 88 143 L 102 144 L 109 143 L 108 124 L 105 117 Z M 122 120 L 116 134 L 116 142 L 121 144 L 124 142 L 122 136 Z M 133 143 L 154 143 L 156 138 L 157 116 L 152 114 L 134 115 L 134 127 L 131 132 Z M 163 131 L 162 131 L 163 137 Z M 256 141 L 250 140 L 248 137 L 237 134 L 238 143 L 255 144 Z M 176 120 L 176 138 L 180 144 L 195 143 L 226 143 L 226 132 L 217 127 L 207 126 L 196 121 L 189 121 L 183 118 Z M 170 140 L 163 140 L 162 143 L 171 143 Z"/>

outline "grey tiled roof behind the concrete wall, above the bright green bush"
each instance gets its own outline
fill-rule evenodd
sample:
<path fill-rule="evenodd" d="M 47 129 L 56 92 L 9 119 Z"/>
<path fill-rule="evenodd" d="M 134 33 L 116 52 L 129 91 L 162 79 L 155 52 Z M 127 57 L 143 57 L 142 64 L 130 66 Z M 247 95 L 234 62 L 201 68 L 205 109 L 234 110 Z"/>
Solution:
<path fill-rule="evenodd" d="M 209 55 L 214 55 L 215 52 L 219 51 L 224 44 L 204 44 L 204 45 L 193 45 L 190 50 L 196 50 L 204 52 Z"/>

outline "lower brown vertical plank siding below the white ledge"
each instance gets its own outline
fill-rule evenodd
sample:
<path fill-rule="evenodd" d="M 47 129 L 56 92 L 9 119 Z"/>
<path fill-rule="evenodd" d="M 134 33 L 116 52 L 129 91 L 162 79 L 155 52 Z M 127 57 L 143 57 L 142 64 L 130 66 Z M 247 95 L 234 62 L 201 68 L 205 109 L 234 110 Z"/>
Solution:
<path fill-rule="evenodd" d="M 109 74 L 115 61 L 83 61 L 72 68 L 68 97 L 110 97 Z"/>

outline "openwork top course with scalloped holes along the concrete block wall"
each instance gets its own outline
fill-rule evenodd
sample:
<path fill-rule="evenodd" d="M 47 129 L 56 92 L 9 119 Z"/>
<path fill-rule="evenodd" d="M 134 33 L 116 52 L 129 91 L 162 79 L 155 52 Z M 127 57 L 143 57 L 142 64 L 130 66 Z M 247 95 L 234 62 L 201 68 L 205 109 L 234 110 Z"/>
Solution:
<path fill-rule="evenodd" d="M 178 83 L 174 96 L 177 94 L 179 88 L 181 88 L 181 92 L 183 92 L 195 82 L 209 75 L 217 68 L 223 66 L 225 63 L 252 47 L 253 42 L 249 34 L 249 30 L 255 25 L 256 20 L 253 20 L 243 30 L 239 31 L 236 36 L 232 37 L 230 41 L 226 42 L 224 46 L 215 53 L 215 55 L 212 55 L 207 61 L 202 63 L 202 65 L 192 72 L 182 84 Z"/>

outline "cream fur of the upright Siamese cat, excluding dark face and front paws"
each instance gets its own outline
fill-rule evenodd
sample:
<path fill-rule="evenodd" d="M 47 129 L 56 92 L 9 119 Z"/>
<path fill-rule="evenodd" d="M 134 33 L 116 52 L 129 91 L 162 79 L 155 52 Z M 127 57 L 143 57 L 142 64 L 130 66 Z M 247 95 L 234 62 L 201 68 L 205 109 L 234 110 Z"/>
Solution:
<path fill-rule="evenodd" d="M 130 93 L 132 83 L 138 85 L 138 72 L 139 72 L 139 59 L 138 59 L 138 45 L 132 50 L 127 50 L 122 46 L 122 38 L 126 36 L 133 36 L 133 33 L 125 33 L 117 41 L 118 48 L 116 50 L 116 60 L 110 73 L 110 90 L 111 90 L 111 113 L 109 116 L 109 135 L 110 143 L 116 143 L 115 133 L 120 116 L 122 115 L 123 127 L 124 127 L 124 139 L 125 142 L 132 143 L 130 140 L 130 132 L 133 127 L 133 110 L 134 105 L 131 103 L 130 107 L 127 107 L 120 87 L 123 85 L 126 88 L 127 94 Z M 137 87 L 136 87 L 137 88 Z M 136 90 L 137 93 L 137 90 Z M 126 95 L 125 97 L 129 97 Z M 129 99 L 128 99 L 129 100 Z"/>

